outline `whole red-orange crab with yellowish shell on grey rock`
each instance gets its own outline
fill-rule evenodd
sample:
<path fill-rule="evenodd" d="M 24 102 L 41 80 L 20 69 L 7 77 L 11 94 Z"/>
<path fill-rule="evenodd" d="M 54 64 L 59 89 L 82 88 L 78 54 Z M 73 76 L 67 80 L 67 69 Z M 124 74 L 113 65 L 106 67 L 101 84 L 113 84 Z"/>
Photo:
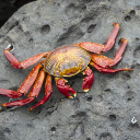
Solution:
<path fill-rule="evenodd" d="M 79 72 L 85 74 L 83 79 L 83 91 L 88 92 L 93 84 L 94 74 L 90 69 L 90 66 L 95 67 L 100 72 L 103 73 L 114 73 L 118 71 L 132 71 L 132 69 L 124 68 L 124 69 L 110 69 L 114 65 L 116 65 L 121 58 L 122 54 L 127 46 L 127 39 L 122 38 L 122 44 L 114 59 L 109 59 L 103 55 L 104 51 L 109 50 L 117 37 L 119 31 L 119 24 L 114 23 L 115 27 L 110 33 L 110 36 L 106 43 L 106 45 L 83 42 L 74 45 L 68 45 L 65 47 L 59 47 L 54 49 L 52 51 L 43 52 L 36 55 L 32 58 L 28 58 L 22 62 L 20 62 L 11 52 L 12 49 L 9 47 L 4 50 L 4 56 L 11 62 L 11 65 L 16 69 L 25 69 L 35 62 L 37 62 L 40 58 L 45 58 L 42 62 L 36 65 L 24 82 L 21 84 L 19 90 L 12 91 L 7 89 L 0 89 L 1 95 L 7 95 L 12 98 L 20 97 L 25 95 L 30 88 L 33 85 L 27 98 L 18 100 L 10 103 L 4 103 L 2 106 L 22 106 L 33 102 L 42 88 L 42 84 L 45 79 L 45 74 L 47 74 L 45 82 L 45 96 L 44 98 L 34 105 L 30 110 L 36 108 L 40 104 L 44 104 L 52 94 L 52 85 L 51 85 L 51 77 L 56 78 L 56 84 L 60 93 L 68 97 L 73 97 L 77 95 L 75 91 L 67 85 L 67 80 L 65 78 L 75 75 Z M 69 93 L 72 93 L 71 96 Z"/>

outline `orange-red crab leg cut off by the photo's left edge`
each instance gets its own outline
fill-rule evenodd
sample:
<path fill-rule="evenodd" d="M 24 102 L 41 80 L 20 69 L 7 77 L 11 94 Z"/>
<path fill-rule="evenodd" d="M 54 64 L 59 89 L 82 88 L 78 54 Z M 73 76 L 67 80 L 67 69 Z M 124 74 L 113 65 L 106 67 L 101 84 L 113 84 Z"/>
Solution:
<path fill-rule="evenodd" d="M 27 78 L 24 80 L 24 82 L 19 88 L 18 92 L 12 91 L 12 90 L 7 90 L 7 89 L 0 89 L 0 94 L 5 95 L 8 97 L 12 97 L 12 98 L 18 98 L 18 97 L 22 96 L 23 94 L 25 95 L 27 93 L 27 91 L 30 90 L 30 88 L 35 82 L 35 79 L 36 79 L 40 68 L 43 68 L 43 66 L 40 63 L 38 63 L 37 66 L 35 66 L 33 68 L 33 70 L 27 75 Z"/>

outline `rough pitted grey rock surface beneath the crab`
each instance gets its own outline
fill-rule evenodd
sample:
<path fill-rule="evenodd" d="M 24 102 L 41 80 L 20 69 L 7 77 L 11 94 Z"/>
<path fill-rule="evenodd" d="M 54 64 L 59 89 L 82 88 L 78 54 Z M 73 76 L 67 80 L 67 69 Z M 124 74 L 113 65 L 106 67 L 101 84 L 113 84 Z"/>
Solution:
<path fill-rule="evenodd" d="M 102 2 L 102 4 L 100 4 Z M 18 90 L 33 67 L 16 70 L 3 51 L 14 43 L 13 54 L 24 60 L 59 46 L 95 42 L 105 44 L 113 23 L 120 38 L 128 39 L 121 62 L 115 68 L 133 68 L 133 72 L 103 74 L 93 68 L 95 82 L 82 92 L 82 78 L 70 80 L 78 97 L 61 95 L 52 81 L 54 94 L 43 106 L 28 113 L 28 105 L 0 113 L 2 140 L 139 140 L 140 139 L 140 1 L 139 0 L 38 0 L 22 7 L 0 30 L 0 88 Z M 43 98 L 44 88 L 37 101 Z M 0 95 L 0 103 L 9 98 Z M 131 125 L 132 117 L 138 124 Z"/>

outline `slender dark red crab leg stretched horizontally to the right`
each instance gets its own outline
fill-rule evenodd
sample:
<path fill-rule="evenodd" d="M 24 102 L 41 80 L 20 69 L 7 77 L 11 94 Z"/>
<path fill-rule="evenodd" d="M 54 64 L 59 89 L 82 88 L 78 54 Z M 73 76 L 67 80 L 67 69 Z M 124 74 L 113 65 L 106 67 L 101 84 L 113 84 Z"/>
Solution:
<path fill-rule="evenodd" d="M 133 71 L 132 69 L 128 69 L 128 68 L 124 68 L 124 69 L 106 69 L 106 68 L 103 68 L 101 66 L 97 66 L 96 63 L 94 63 L 92 61 L 90 62 L 90 65 L 95 67 L 102 73 L 115 73 L 115 72 L 119 72 L 119 71 Z"/>

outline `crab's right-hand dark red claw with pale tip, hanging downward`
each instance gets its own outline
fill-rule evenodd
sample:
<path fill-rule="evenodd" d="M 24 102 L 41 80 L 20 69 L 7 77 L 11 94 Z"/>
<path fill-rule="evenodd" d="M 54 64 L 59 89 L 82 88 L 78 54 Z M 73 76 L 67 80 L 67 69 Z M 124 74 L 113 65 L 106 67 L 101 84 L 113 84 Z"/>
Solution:
<path fill-rule="evenodd" d="M 88 92 L 93 84 L 94 74 L 89 67 L 83 71 L 83 74 L 86 74 L 86 77 L 83 79 L 83 91 Z"/>

